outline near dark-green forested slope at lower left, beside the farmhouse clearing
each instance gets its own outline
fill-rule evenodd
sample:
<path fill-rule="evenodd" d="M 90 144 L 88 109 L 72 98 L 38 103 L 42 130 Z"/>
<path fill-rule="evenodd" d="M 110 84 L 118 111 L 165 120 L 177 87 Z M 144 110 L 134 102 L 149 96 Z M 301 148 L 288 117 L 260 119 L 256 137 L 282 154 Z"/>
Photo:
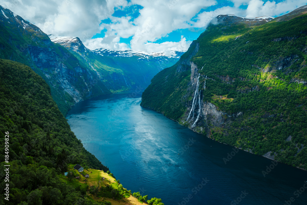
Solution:
<path fill-rule="evenodd" d="M 8 172 L 0 172 L 2 191 L 9 184 L 9 200 L 0 204 L 93 204 L 84 198 L 84 187 L 70 186 L 58 175 L 68 163 L 109 169 L 70 130 L 47 83 L 30 67 L 0 59 L 0 102 L 0 158 L 2 167 L 10 165 L 9 181 Z"/>

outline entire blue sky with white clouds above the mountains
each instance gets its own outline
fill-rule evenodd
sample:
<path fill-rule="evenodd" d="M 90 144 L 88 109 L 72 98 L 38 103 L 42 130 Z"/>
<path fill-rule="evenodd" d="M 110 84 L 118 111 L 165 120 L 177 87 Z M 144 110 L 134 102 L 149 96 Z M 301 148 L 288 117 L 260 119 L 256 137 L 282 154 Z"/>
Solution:
<path fill-rule="evenodd" d="M 305 0 L 0 0 L 46 34 L 75 36 L 89 49 L 187 50 L 220 14 L 286 14 Z"/>

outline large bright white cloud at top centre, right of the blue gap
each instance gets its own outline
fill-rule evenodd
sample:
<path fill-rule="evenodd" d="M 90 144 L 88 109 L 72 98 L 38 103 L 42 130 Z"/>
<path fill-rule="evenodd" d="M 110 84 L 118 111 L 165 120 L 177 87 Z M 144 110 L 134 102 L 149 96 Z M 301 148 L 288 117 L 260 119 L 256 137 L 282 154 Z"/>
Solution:
<path fill-rule="evenodd" d="M 201 2 L 198 0 L 134 0 L 132 2 L 141 5 L 143 9 L 139 11 L 140 16 L 134 20 L 136 30 L 130 41 L 131 49 L 146 50 L 153 48 L 153 45 L 158 46 L 157 43 L 152 42 L 174 30 L 191 28 L 189 21 L 195 14 L 201 9 L 216 4 L 213 0 Z"/>

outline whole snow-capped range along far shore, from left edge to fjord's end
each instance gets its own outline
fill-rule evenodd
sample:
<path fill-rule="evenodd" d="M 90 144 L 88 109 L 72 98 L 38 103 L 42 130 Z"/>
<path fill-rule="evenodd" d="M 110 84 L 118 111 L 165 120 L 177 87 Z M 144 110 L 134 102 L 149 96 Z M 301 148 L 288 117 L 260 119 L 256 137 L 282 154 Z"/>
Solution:
<path fill-rule="evenodd" d="M 179 59 L 131 51 L 126 53 L 132 56 L 125 59 L 103 56 L 101 51 L 87 49 L 77 37 L 57 38 L 54 43 L 37 26 L 0 9 L 0 58 L 21 62 L 39 74 L 64 115 L 73 104 L 91 97 L 144 89 L 155 74 Z"/>

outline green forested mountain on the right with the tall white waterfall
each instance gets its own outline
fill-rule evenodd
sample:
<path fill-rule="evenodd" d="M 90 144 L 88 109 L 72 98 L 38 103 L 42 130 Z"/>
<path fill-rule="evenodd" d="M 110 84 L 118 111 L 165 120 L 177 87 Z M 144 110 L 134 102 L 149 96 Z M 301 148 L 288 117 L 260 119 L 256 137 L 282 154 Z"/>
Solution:
<path fill-rule="evenodd" d="M 307 6 L 219 15 L 141 105 L 219 142 L 307 169 Z"/>

